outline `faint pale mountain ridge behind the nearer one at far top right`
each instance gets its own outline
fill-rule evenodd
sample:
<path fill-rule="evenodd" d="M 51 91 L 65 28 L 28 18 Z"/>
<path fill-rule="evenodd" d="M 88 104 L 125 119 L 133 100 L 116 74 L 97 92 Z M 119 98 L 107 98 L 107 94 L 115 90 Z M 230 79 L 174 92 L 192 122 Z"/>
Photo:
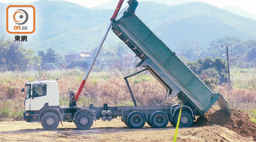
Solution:
<path fill-rule="evenodd" d="M 245 11 L 243 9 L 240 9 L 239 7 L 236 7 L 236 6 L 225 6 L 222 9 L 228 10 L 230 12 L 233 12 L 234 14 L 244 16 L 246 18 L 251 18 L 253 20 L 256 20 L 256 14 Z"/>

